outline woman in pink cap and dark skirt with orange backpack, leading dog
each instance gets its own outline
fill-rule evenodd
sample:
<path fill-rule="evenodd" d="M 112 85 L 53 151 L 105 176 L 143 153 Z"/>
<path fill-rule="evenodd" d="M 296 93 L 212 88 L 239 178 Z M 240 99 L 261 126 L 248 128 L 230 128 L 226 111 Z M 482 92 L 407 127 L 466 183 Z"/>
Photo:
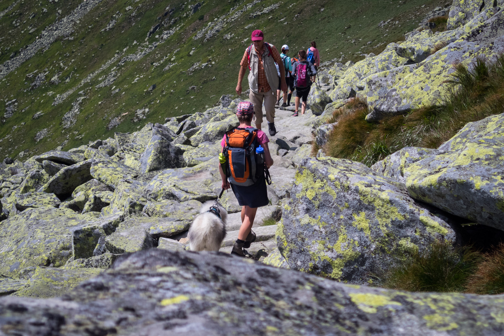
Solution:
<path fill-rule="evenodd" d="M 257 208 L 269 204 L 265 172 L 273 165 L 273 159 L 266 133 L 250 125 L 254 116 L 254 104 L 240 102 L 236 116 L 239 126 L 227 131 L 221 142 L 226 171 L 219 164 L 219 172 L 222 189 L 231 187 L 242 207 L 241 227 L 231 254 L 245 256 L 243 248 L 250 247 L 250 243 L 256 240 L 256 234 L 251 229 Z"/>

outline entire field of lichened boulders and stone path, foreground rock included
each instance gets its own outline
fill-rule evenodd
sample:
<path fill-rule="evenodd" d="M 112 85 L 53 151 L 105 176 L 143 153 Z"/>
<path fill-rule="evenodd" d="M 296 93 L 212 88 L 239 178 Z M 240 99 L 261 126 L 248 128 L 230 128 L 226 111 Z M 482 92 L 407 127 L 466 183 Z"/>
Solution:
<path fill-rule="evenodd" d="M 187 241 L 202 204 L 221 191 L 220 141 L 239 124 L 239 98 L 68 151 L 6 158 L 0 333 L 502 334 L 503 295 L 373 286 L 435 243 L 457 253 L 502 241 L 504 111 L 370 167 L 323 149 L 338 130 L 333 112 L 365 101 L 366 120 L 379 122 L 439 104 L 454 64 L 471 70 L 504 52 L 503 2 L 475 4 L 455 0 L 446 31 L 420 27 L 378 55 L 325 63 L 305 115 L 276 109 L 270 204 L 246 258 L 229 254 L 241 224 L 232 192 L 220 199 L 229 214 L 220 252 L 188 251 Z"/>

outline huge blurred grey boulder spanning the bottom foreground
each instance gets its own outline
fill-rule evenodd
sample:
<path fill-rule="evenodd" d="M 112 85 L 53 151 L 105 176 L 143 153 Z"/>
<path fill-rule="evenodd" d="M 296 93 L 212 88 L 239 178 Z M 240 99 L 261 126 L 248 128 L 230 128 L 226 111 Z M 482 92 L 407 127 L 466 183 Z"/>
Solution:
<path fill-rule="evenodd" d="M 0 323 L 22 335 L 497 335 L 503 298 L 347 286 L 224 254 L 151 249 L 61 299 L 4 297 Z"/>

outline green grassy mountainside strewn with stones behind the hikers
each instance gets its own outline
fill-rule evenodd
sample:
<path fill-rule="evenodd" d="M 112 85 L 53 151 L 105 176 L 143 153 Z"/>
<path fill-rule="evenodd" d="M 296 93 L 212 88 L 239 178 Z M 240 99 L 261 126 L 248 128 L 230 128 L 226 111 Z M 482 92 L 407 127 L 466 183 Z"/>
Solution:
<path fill-rule="evenodd" d="M 13 3 L 0 2 L 0 12 Z M 115 131 L 135 131 L 146 122 L 164 122 L 165 117 L 204 110 L 222 94 L 234 92 L 239 61 L 254 29 L 262 29 L 266 40 L 278 47 L 286 43 L 292 51 L 299 50 L 314 39 L 323 61 L 356 61 L 363 58 L 362 53 L 378 53 L 386 44 L 402 39 L 432 6 L 444 5 L 432 0 L 205 0 L 191 14 L 191 6 L 196 3 L 103 0 L 75 24 L 70 35 L 58 37 L 0 79 L 0 158 L 20 153 L 27 158 L 60 145 L 66 150 L 113 136 Z M 21 48 L 41 36 L 46 26 L 65 18 L 79 4 L 76 0 L 18 2 L 0 18 L 0 62 L 10 59 L 13 52 L 19 54 Z M 278 8 L 253 17 L 252 14 L 275 4 Z M 167 9 L 174 11 L 164 16 Z M 111 20 L 116 20 L 116 24 L 102 31 Z M 194 39 L 209 24 L 213 28 L 222 20 L 226 22 L 218 33 L 208 39 Z M 385 26 L 378 26 L 388 20 Z M 175 22 L 170 24 L 172 21 Z M 160 22 L 165 25 L 146 40 L 151 27 Z M 175 32 L 163 40 L 163 32 L 168 31 Z M 159 45 L 153 47 L 153 43 Z M 145 55 L 140 59 L 118 64 L 124 56 L 142 50 Z M 175 50 L 178 51 L 174 54 Z M 75 89 L 112 58 L 89 83 Z M 208 64 L 188 71 L 195 63 Z M 112 71 L 116 72 L 115 81 L 96 88 Z M 40 73 L 45 74 L 45 81 L 32 89 L 31 84 Z M 136 78 L 139 79 L 135 82 Z M 156 88 L 148 91 L 153 84 Z M 246 86 L 246 80 L 243 84 Z M 57 95 L 72 89 L 75 91 L 65 100 L 53 105 Z M 117 89 L 120 91 L 112 93 Z M 73 117 L 75 124 L 64 128 L 62 117 L 83 96 L 86 98 L 79 105 L 79 114 Z M 13 99 L 17 99 L 15 111 L 6 118 L 4 113 L 15 103 L 5 105 Z M 135 111 L 143 108 L 149 109 L 145 118 L 135 117 Z M 43 114 L 33 119 L 37 112 Z M 107 129 L 111 120 L 118 125 Z M 34 139 L 37 133 L 39 138 L 44 136 L 38 142 Z"/>

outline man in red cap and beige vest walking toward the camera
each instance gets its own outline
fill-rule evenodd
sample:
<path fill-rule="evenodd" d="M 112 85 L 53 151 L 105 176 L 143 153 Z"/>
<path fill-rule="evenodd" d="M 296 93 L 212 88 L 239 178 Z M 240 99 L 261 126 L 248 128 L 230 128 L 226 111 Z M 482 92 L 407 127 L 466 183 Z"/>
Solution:
<path fill-rule="evenodd" d="M 254 104 L 256 128 L 261 129 L 264 101 L 268 130 L 270 136 L 274 136 L 277 130 L 275 128 L 276 97 L 273 92 L 276 92 L 279 80 L 275 63 L 281 64 L 282 57 L 273 44 L 264 42 L 264 34 L 259 29 L 252 32 L 251 39 L 253 43 L 246 48 L 240 62 L 241 68 L 238 74 L 236 93 L 241 95 L 241 81 L 243 81 L 243 76 L 248 68 L 248 86 L 250 87 L 248 97 L 250 102 Z M 283 66 L 280 66 L 280 88 L 283 92 L 287 92 Z"/>

